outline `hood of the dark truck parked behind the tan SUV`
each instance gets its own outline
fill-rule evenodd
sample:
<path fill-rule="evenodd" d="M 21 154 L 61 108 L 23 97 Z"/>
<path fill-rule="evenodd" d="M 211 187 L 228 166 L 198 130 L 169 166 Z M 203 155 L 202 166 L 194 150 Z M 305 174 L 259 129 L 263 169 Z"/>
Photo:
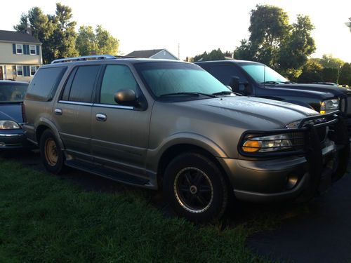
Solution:
<path fill-rule="evenodd" d="M 272 88 L 288 88 L 290 90 L 309 90 L 314 93 L 329 93 L 333 97 L 343 94 L 351 94 L 351 90 L 347 88 L 340 88 L 336 86 L 322 85 L 322 84 L 300 84 L 300 83 L 287 83 L 277 85 L 265 85 Z"/>

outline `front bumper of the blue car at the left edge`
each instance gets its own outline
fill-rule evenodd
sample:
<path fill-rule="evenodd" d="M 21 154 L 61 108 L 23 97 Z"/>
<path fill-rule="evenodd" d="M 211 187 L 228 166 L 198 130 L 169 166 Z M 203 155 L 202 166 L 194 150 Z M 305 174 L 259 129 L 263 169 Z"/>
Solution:
<path fill-rule="evenodd" d="M 27 149 L 33 145 L 26 139 L 22 129 L 0 130 L 0 149 Z"/>

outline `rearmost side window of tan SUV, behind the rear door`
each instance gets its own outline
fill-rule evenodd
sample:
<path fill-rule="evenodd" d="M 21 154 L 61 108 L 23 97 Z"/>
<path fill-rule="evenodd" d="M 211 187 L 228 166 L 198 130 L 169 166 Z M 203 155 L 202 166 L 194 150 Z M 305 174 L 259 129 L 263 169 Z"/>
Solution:
<path fill-rule="evenodd" d="M 26 99 L 49 101 L 55 96 L 58 84 L 65 74 L 67 67 L 41 68 L 29 84 Z"/>

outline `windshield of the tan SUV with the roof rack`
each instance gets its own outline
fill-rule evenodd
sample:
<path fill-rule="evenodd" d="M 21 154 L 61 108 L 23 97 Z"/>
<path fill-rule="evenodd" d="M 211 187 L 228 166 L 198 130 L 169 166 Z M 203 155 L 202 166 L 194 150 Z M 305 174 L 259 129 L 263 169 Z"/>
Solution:
<path fill-rule="evenodd" d="M 181 62 L 145 62 L 135 65 L 146 85 L 157 96 L 211 95 L 230 91 L 197 65 Z M 192 96 L 196 97 L 196 96 Z"/>

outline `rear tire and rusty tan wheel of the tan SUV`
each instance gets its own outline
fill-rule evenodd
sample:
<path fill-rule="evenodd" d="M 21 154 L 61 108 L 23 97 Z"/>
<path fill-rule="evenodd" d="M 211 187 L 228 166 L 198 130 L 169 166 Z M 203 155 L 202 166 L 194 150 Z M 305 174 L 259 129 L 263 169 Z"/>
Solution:
<path fill-rule="evenodd" d="M 46 170 L 55 175 L 62 172 L 65 166 L 65 155 L 51 130 L 45 130 L 40 137 L 40 155 Z"/>

